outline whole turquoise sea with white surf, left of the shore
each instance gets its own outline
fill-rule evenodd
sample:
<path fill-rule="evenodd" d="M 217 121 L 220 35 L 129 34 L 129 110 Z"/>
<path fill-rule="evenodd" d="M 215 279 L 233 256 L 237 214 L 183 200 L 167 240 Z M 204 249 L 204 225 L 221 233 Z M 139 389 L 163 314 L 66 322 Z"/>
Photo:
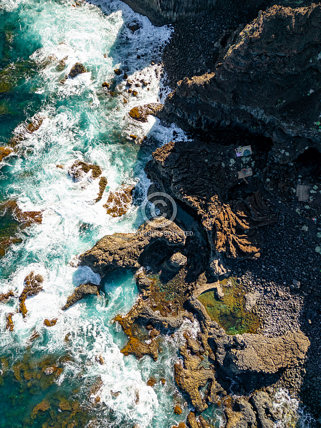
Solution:
<path fill-rule="evenodd" d="M 173 365 L 182 331 L 187 327 L 196 331 L 197 325 L 186 321 L 175 338 L 164 339 L 157 362 L 149 357 L 124 358 L 120 348 L 125 335 L 112 319 L 126 313 L 137 298 L 130 274 L 107 278 L 105 294 L 65 312 L 60 309 L 77 285 L 100 281 L 90 269 L 74 267 L 75 256 L 105 234 L 130 232 L 143 222 L 136 207 L 121 218 L 111 218 L 103 208 L 108 191 L 122 183 L 138 183 L 142 195 L 146 194 L 143 167 L 154 146 L 135 144 L 129 135 L 149 135 L 157 145 L 170 141 L 174 129 L 185 138 L 174 125 L 164 128 L 152 117 L 147 124 L 138 124 L 127 115 L 134 106 L 157 101 L 162 85 L 157 59 L 171 29 L 156 29 L 118 0 L 92 3 L 96 5 L 79 2 L 73 7 L 74 2 L 65 0 L 0 0 L 2 81 L 7 76 L 3 71 L 11 67 L 9 90 L 0 94 L 0 145 L 18 134 L 24 121 L 39 114 L 44 118 L 40 128 L 21 143 L 19 156 L 0 169 L 0 200 L 17 199 L 25 211 L 43 210 L 42 224 L 21 233 L 22 243 L 0 259 L 0 292 L 13 289 L 20 294 L 32 270 L 44 278 L 44 290 L 26 301 L 25 320 L 15 312 L 17 300 L 0 303 L 0 427 L 56 426 L 57 415 L 64 415 L 63 409 L 58 410 L 57 394 L 79 401 L 88 411 L 91 427 L 165 428 L 184 421 L 191 410 L 184 407 L 186 397 L 175 386 Z M 126 26 L 133 21 L 142 27 L 134 35 Z M 58 71 L 64 58 L 65 69 Z M 153 60 L 156 65 L 151 65 Z M 78 61 L 88 72 L 62 85 L 59 81 Z M 119 94 L 107 95 L 102 82 L 115 79 L 117 67 L 126 68 L 129 77 L 141 73 L 140 78 L 151 82 L 150 90 L 138 88 L 138 97 L 124 104 L 124 82 L 116 77 Z M 100 202 L 93 203 L 99 180 L 85 177 L 74 183 L 69 178 L 68 167 L 76 159 L 103 169 L 108 186 Z M 57 164 L 65 169 L 56 168 Z M 11 312 L 13 332 L 5 329 Z M 44 319 L 54 318 L 58 319 L 54 326 L 44 326 Z M 35 332 L 39 336 L 30 341 Z M 41 382 L 47 375 L 37 365 L 48 356 L 50 364 L 58 361 L 63 372 L 53 375 L 45 388 Z M 105 364 L 99 363 L 99 356 Z M 30 373 L 19 372 L 21 380 L 10 371 L 17 361 L 29 367 Z M 146 385 L 150 376 L 158 381 L 154 389 Z M 98 378 L 100 389 L 92 392 Z M 160 378 L 166 379 L 165 386 Z M 97 396 L 99 404 L 93 406 Z M 43 399 L 49 400 L 52 409 L 39 410 L 30 419 Z M 176 403 L 183 407 L 180 416 L 173 413 Z M 218 411 L 211 408 L 207 415 L 215 427 L 220 425 Z"/>

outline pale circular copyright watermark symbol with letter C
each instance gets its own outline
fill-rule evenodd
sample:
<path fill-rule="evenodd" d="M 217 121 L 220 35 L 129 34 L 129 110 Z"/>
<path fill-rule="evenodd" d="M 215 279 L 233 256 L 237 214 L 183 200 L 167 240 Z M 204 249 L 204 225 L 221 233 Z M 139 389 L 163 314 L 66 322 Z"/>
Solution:
<path fill-rule="evenodd" d="M 147 204 L 149 207 L 149 213 L 150 216 L 148 218 L 147 216 Z M 158 206 L 161 206 L 162 214 L 158 215 L 156 213 L 156 209 L 160 211 L 160 208 Z M 173 221 L 175 220 L 176 214 L 177 214 L 177 205 L 175 200 L 172 198 L 172 196 L 167 195 L 167 193 L 164 192 L 155 192 L 151 193 L 144 199 L 142 203 L 142 215 L 143 219 L 147 224 L 149 224 L 152 227 L 166 227 L 169 226 Z M 167 211 L 167 212 L 166 212 Z M 167 218 L 169 216 L 168 213 L 172 213 L 170 218 Z M 158 220 L 157 222 L 153 220 Z"/>

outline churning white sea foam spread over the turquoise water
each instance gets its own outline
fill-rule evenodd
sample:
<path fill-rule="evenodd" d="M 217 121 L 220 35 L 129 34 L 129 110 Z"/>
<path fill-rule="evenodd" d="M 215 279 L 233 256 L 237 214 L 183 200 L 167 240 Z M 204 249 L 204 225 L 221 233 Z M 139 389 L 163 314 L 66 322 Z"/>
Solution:
<path fill-rule="evenodd" d="M 19 159 L 11 164 L 17 179 L 7 189 L 11 198 L 18 198 L 20 209 L 42 210 L 42 223 L 29 228 L 23 243 L 12 247 L 0 261 L 0 266 L 9 270 L 11 267 L 12 271 L 9 278 L 0 280 L 1 291 L 13 289 L 18 296 L 31 270 L 44 277 L 43 291 L 26 300 L 25 319 L 15 312 L 18 299 L 11 306 L 1 304 L 0 343 L 2 347 L 18 344 L 23 348 L 37 331 L 40 339 L 33 343 L 34 349 L 45 353 L 65 349 L 73 357 L 58 381 L 61 385 L 68 376 L 94 379 L 99 375 L 103 380 L 99 392 L 101 401 L 114 410 L 118 421 L 129 420 L 142 428 L 151 424 L 160 426 L 153 422 L 160 397 L 146 386 L 139 362 L 133 357 L 124 360 L 119 349 L 125 344 L 125 336 L 110 324 L 117 313 L 126 313 L 135 302 L 137 289 L 133 279 L 107 285 L 108 303 L 100 295 L 82 300 L 67 311 L 61 308 L 77 285 L 100 280 L 89 268 L 73 267 L 74 255 L 90 248 L 106 233 L 135 228 L 136 209 L 123 218 L 112 219 L 103 208 L 108 191 L 116 190 L 123 182 L 140 179 L 143 186 L 148 185 L 143 174 L 145 159 L 140 160 L 141 166 L 136 166 L 137 148 L 128 142 L 122 147 L 114 142 L 115 137 L 126 139 L 131 132 L 142 136 L 151 132 L 162 135 L 164 142 L 172 138 L 174 127 L 162 129 L 152 118 L 147 125 L 141 125 L 127 116 L 135 105 L 157 101 L 161 70 L 159 65 L 152 66 L 150 62 L 156 59 L 157 53 L 153 51 L 169 38 L 171 29 L 156 30 L 147 18 L 134 14 L 121 2 L 105 1 L 101 3 L 101 10 L 88 3 L 76 8 L 69 1 L 51 3 L 37 4 L 41 13 L 33 16 L 33 25 L 28 28 L 28 38 L 39 39 L 42 46 L 31 59 L 41 67 L 33 90 L 46 97 L 39 111 L 45 119 L 40 128 L 26 135 L 21 143 L 21 149 L 33 151 L 27 155 L 26 164 Z M 31 4 L 29 0 L 28 5 Z M 18 6 L 18 1 L 6 1 L 8 11 Z M 23 21 L 29 9 L 21 9 L 19 13 Z M 125 26 L 133 19 L 142 26 L 134 35 Z M 137 54 L 142 56 L 141 60 Z M 88 72 L 60 83 L 76 62 L 83 63 Z M 151 82 L 150 90 L 138 88 L 138 97 L 128 97 L 128 103 L 123 104 L 124 83 L 117 80 L 120 95 L 115 98 L 106 95 L 101 84 L 115 78 L 116 67 L 126 68 L 133 78 L 142 73 Z M 16 132 L 21 129 L 17 128 Z M 93 202 L 99 179 L 91 178 L 89 173 L 73 182 L 68 176 L 68 169 L 76 159 L 99 164 L 107 177 L 106 192 L 96 204 Z M 63 164 L 64 169 L 57 168 L 57 164 Z M 28 170 L 31 173 L 25 175 Z M 23 181 L 19 181 L 20 175 Z M 14 313 L 13 332 L 4 329 L 9 311 Z M 53 318 L 57 318 L 54 326 L 43 324 L 44 319 Z M 69 342 L 65 341 L 66 335 L 70 335 Z M 106 364 L 98 364 L 97 355 L 101 355 Z M 166 360 L 164 364 L 166 375 L 171 377 L 172 367 Z M 118 397 L 110 393 L 118 390 L 121 390 Z"/>

